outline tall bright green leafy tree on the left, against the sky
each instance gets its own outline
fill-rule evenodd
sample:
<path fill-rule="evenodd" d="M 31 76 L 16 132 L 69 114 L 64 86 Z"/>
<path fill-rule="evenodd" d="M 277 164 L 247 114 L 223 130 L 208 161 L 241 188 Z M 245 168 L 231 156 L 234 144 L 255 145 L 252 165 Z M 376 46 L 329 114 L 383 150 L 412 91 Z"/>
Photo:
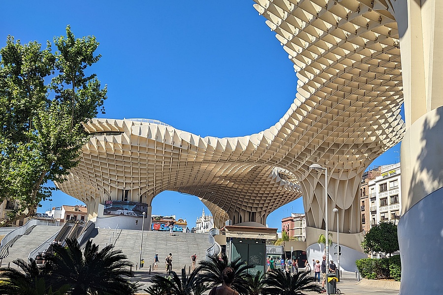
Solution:
<path fill-rule="evenodd" d="M 100 58 L 95 37 L 75 39 L 67 26 L 54 43 L 52 53 L 49 42 L 42 50 L 8 36 L 0 50 L 0 202 L 19 204 L 0 226 L 32 216 L 51 197 L 48 181 L 63 182 L 78 164 L 88 140 L 83 124 L 106 99 L 106 87 L 86 74 Z"/>

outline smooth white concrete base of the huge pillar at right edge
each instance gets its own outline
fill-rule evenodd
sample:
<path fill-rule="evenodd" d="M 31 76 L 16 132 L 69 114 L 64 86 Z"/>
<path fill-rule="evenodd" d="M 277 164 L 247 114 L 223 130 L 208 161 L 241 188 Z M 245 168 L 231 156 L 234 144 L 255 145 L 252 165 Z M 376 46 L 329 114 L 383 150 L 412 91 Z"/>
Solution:
<path fill-rule="evenodd" d="M 443 261 L 443 107 L 417 119 L 401 147 L 402 218 L 398 239 L 401 295 L 440 294 L 441 271 L 416 267 Z M 420 282 L 417 284 L 417 282 Z"/>

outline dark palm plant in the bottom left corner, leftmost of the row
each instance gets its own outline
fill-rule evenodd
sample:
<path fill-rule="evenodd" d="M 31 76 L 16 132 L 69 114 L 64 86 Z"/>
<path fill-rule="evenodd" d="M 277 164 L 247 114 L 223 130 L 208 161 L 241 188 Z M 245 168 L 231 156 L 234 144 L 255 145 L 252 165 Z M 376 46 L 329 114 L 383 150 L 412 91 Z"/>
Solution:
<path fill-rule="evenodd" d="M 64 295 L 70 286 L 61 286 L 59 290 L 54 290 L 46 284 L 46 273 L 38 268 L 35 260 L 29 259 L 26 263 L 22 259 L 14 260 L 13 263 L 19 266 L 22 271 L 12 267 L 0 268 L 0 294 L 5 295 Z"/>

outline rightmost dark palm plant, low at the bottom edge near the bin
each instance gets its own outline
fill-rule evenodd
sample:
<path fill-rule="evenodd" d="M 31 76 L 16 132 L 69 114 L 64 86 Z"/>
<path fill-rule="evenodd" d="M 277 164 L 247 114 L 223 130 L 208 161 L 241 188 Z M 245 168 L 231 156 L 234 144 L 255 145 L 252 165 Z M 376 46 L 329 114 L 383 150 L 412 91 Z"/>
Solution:
<path fill-rule="evenodd" d="M 274 269 L 268 272 L 264 279 L 266 287 L 263 295 L 306 295 L 303 291 L 319 292 L 322 288 L 314 284 L 315 278 L 309 276 L 308 272 L 299 271 L 290 274 L 281 269 Z"/>

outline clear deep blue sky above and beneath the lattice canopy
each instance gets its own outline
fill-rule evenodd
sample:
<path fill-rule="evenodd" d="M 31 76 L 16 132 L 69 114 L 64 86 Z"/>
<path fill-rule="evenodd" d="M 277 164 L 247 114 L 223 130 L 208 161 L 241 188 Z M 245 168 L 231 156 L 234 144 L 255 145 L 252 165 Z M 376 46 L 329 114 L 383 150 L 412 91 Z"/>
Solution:
<path fill-rule="evenodd" d="M 280 42 L 253 1 L 2 1 L 0 46 L 13 35 L 43 44 L 65 34 L 95 35 L 102 55 L 92 71 L 108 85 L 100 118 L 153 118 L 201 136 L 233 137 L 274 125 L 292 103 L 297 78 Z M 398 162 L 400 145 L 375 165 Z M 43 202 L 81 204 L 62 192 Z M 154 214 L 176 214 L 189 226 L 201 215 L 196 197 L 163 192 Z M 209 210 L 205 209 L 206 213 Z M 281 228 L 299 199 L 271 213 Z"/>

